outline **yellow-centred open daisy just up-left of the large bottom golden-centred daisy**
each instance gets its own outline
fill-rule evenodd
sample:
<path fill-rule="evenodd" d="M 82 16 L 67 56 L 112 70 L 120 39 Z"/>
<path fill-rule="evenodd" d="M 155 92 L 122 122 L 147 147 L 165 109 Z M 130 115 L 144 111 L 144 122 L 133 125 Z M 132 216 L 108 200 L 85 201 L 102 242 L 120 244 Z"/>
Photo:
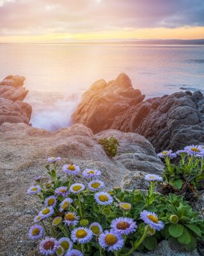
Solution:
<path fill-rule="evenodd" d="M 78 242 L 80 244 L 89 243 L 92 236 L 92 231 L 85 227 L 78 227 L 71 231 L 71 239 L 73 242 Z"/>

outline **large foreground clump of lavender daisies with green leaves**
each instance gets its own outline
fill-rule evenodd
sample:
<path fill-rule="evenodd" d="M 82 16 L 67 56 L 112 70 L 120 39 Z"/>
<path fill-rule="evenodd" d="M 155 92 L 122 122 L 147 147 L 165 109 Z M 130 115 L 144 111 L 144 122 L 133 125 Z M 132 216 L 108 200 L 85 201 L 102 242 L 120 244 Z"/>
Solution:
<path fill-rule="evenodd" d="M 203 221 L 182 196 L 154 192 L 162 177 L 145 176 L 148 193 L 118 187 L 106 192 L 99 170 L 82 172 L 87 184 L 72 182 L 81 173 L 75 164 L 63 166 L 66 178 L 57 177 L 60 160 L 48 159 L 52 182 L 43 184 L 36 177 L 36 184 L 27 190 L 43 204 L 28 233 L 40 240 L 41 255 L 128 256 L 135 250 L 154 250 L 164 239 L 191 251 L 204 239 Z"/>

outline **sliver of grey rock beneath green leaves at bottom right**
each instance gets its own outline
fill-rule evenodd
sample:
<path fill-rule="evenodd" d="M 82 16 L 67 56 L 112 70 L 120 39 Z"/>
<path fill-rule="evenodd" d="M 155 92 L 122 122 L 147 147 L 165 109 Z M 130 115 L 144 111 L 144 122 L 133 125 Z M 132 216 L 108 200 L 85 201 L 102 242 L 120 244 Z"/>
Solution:
<path fill-rule="evenodd" d="M 193 252 L 178 252 L 171 249 L 168 241 L 161 241 L 156 250 L 147 253 L 135 252 L 135 256 L 199 256 L 198 252 L 194 250 Z"/>

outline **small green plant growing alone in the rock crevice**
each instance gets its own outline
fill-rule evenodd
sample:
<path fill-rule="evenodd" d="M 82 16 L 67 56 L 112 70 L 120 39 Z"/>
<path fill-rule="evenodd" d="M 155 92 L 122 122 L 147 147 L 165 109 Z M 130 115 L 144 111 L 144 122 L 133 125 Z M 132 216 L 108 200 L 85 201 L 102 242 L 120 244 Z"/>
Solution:
<path fill-rule="evenodd" d="M 109 139 L 100 139 L 99 144 L 103 146 L 107 156 L 114 157 L 117 155 L 117 147 L 119 146 L 119 141 L 113 136 L 111 136 Z"/>

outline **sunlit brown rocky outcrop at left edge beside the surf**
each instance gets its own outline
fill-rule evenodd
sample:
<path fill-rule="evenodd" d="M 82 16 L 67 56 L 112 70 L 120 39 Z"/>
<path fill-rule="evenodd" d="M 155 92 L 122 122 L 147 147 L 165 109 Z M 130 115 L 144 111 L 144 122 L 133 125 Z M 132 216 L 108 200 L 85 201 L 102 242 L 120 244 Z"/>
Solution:
<path fill-rule="evenodd" d="M 32 108 L 25 99 L 25 77 L 8 76 L 0 82 L 0 125 L 5 122 L 29 124 Z"/>

